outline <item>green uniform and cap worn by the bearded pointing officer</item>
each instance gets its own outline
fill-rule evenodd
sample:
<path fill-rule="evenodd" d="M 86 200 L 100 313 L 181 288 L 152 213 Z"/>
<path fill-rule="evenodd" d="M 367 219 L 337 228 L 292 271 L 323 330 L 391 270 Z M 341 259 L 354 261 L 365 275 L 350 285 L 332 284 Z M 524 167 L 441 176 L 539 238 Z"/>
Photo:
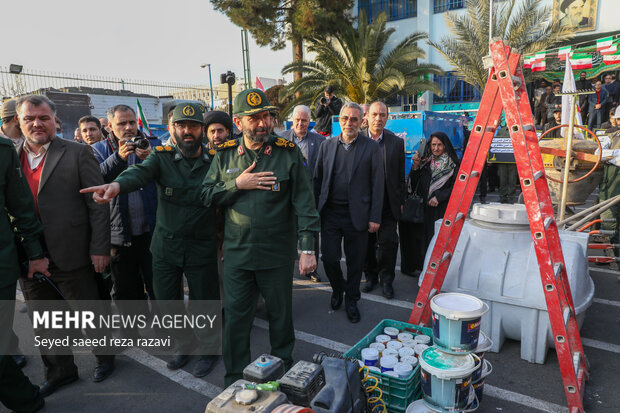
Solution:
<path fill-rule="evenodd" d="M 194 104 L 186 106 L 193 107 Z M 198 105 L 193 110 L 199 111 Z M 175 109 L 176 111 L 176 109 Z M 174 116 L 174 115 L 173 115 Z M 202 122 L 202 113 L 200 113 Z M 214 151 L 212 151 L 214 153 Z M 156 181 L 157 220 L 151 240 L 153 290 L 157 300 L 183 300 L 183 274 L 192 300 L 219 300 L 215 208 L 200 200 L 201 184 L 211 165 L 211 154 L 203 145 L 197 158 L 185 157 L 178 146 L 157 146 L 141 164 L 128 168 L 115 182 L 121 192 L 136 191 Z M 207 331 L 196 330 L 199 354 L 207 355 Z M 190 354 L 193 337 L 178 337 L 176 351 Z"/>

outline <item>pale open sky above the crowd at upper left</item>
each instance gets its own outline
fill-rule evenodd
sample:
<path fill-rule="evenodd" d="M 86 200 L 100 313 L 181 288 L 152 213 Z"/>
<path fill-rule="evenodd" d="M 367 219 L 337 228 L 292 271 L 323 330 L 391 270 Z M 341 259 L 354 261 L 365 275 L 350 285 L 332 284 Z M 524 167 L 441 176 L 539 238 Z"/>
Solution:
<path fill-rule="evenodd" d="M 241 29 L 209 0 L 31 0 L 0 7 L 5 36 L 0 66 L 208 84 L 231 70 L 243 77 Z M 7 46 L 6 36 L 15 41 Z M 292 60 L 283 50 L 259 47 L 250 35 L 252 79 L 280 78 Z"/>

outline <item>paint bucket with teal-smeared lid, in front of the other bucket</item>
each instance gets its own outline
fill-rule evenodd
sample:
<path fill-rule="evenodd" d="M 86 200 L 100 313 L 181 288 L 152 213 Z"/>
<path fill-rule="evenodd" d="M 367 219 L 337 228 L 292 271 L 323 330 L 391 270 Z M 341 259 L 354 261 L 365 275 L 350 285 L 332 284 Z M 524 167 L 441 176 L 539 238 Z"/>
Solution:
<path fill-rule="evenodd" d="M 429 347 L 418 359 L 426 404 L 439 410 L 464 410 L 469 403 L 471 375 L 476 369 L 474 356 Z"/>

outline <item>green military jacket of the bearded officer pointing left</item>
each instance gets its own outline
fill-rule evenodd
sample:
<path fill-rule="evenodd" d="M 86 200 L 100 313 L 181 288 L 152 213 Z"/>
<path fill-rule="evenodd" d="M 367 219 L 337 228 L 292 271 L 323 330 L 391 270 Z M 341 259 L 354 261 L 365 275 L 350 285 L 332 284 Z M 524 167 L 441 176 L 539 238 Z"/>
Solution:
<path fill-rule="evenodd" d="M 202 265 L 216 260 L 215 207 L 206 207 L 201 185 L 211 165 L 203 153 L 193 160 L 174 146 L 157 146 L 141 163 L 114 181 L 121 192 L 132 192 L 151 181 L 157 184 L 157 218 L 151 253 L 175 265 Z"/>

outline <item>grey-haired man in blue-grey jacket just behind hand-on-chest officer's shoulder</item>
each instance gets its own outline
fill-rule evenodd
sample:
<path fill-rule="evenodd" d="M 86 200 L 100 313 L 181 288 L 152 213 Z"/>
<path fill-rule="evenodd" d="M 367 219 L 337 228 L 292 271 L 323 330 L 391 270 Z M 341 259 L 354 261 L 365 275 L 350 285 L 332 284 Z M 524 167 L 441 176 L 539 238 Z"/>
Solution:
<path fill-rule="evenodd" d="M 310 108 L 305 105 L 297 105 L 293 109 L 293 127 L 282 132 L 280 136 L 295 143 L 301 149 L 301 153 L 306 160 L 306 166 L 310 171 L 310 176 L 314 176 L 316 160 L 319 155 L 319 147 L 325 140 L 325 137 L 318 133 L 308 131 L 310 126 Z M 314 242 L 315 256 L 319 256 L 319 237 Z M 321 282 L 321 276 L 318 272 L 312 271 L 308 274 L 313 282 Z"/>

